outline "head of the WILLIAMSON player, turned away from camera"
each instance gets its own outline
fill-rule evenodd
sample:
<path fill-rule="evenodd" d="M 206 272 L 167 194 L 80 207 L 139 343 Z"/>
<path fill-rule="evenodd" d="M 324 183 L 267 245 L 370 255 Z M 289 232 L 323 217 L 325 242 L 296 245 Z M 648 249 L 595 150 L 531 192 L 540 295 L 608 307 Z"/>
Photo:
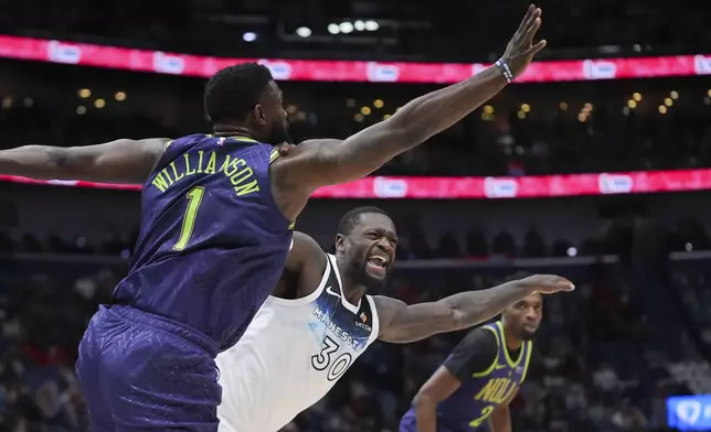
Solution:
<path fill-rule="evenodd" d="M 245 128 L 263 142 L 289 141 L 282 90 L 264 65 L 242 63 L 219 71 L 205 86 L 204 104 L 217 130 Z"/>

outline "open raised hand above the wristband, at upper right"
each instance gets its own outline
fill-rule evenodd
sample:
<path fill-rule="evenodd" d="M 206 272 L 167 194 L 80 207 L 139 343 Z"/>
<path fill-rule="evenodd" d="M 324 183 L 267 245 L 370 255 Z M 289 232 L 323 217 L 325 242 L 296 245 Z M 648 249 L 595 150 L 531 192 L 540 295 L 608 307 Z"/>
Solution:
<path fill-rule="evenodd" d="M 531 64 L 533 56 L 545 46 L 545 40 L 533 44 L 533 37 L 541 26 L 541 9 L 534 4 L 529 6 L 526 17 L 521 21 L 519 29 L 513 33 L 513 37 L 506 46 L 506 52 L 501 56 L 518 77 Z"/>

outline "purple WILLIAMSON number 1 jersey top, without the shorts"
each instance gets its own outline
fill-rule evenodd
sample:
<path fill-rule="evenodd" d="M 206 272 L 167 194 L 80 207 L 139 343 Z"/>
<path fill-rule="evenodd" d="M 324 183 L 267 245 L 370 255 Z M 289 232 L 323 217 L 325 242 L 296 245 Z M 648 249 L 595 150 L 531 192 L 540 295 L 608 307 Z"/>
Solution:
<path fill-rule="evenodd" d="M 270 193 L 276 158 L 273 145 L 243 137 L 169 142 L 144 185 L 140 236 L 113 302 L 232 346 L 276 285 L 291 241 Z"/>

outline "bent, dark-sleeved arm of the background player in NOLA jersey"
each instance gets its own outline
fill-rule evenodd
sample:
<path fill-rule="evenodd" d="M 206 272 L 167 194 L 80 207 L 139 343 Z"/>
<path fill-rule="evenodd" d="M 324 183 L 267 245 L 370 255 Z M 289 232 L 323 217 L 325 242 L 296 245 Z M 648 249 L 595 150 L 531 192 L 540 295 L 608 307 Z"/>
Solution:
<path fill-rule="evenodd" d="M 492 332 L 481 327 L 469 332 L 415 395 L 413 406 L 417 432 L 437 431 L 437 404 L 449 398 L 474 374 L 489 369 L 496 361 L 497 350 Z"/>

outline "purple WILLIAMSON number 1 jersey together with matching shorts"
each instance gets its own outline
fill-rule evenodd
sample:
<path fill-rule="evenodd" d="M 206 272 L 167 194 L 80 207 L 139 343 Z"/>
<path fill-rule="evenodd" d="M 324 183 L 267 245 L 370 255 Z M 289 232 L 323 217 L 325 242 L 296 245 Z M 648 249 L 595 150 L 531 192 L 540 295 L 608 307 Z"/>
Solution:
<path fill-rule="evenodd" d="M 217 430 L 215 356 L 276 285 L 291 241 L 270 194 L 276 158 L 245 138 L 166 147 L 144 185 L 128 276 L 79 344 L 92 431 Z"/>

